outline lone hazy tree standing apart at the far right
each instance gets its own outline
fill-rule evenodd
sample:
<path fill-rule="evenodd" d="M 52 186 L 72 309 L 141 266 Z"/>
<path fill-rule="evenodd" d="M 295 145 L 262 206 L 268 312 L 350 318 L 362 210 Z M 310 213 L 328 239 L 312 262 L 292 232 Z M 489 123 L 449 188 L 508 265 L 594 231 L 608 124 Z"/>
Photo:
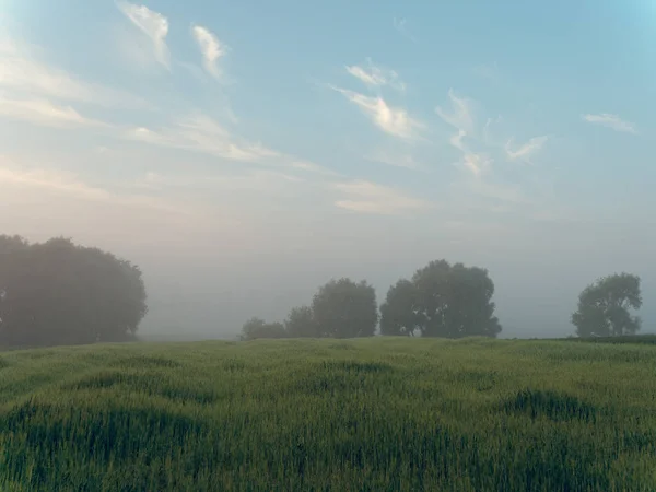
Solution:
<path fill-rule="evenodd" d="M 641 306 L 640 277 L 614 273 L 583 290 L 572 324 L 579 337 L 634 335 L 641 328 L 641 319 L 629 309 Z"/>

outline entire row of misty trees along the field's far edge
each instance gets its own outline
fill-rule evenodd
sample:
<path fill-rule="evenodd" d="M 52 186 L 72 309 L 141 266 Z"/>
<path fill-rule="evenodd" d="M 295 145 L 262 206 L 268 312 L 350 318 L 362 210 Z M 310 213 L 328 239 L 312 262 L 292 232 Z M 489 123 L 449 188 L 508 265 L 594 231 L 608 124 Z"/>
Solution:
<path fill-rule="evenodd" d="M 488 270 L 442 259 L 391 285 L 380 306 L 366 281 L 331 280 L 283 323 L 249 319 L 242 338 L 496 337 L 493 295 Z M 641 306 L 640 277 L 616 273 L 583 290 L 571 321 L 578 337 L 634 335 Z M 147 313 L 130 261 L 69 238 L 0 235 L 0 347 L 134 340 Z"/>

